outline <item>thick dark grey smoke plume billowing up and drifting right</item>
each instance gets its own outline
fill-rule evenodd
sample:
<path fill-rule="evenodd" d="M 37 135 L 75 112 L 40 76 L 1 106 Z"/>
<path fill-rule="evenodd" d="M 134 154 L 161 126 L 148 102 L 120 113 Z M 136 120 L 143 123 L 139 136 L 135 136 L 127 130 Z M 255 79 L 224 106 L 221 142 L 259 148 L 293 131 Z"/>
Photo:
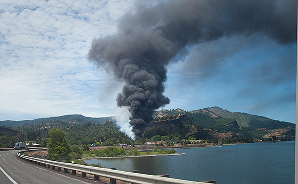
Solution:
<path fill-rule="evenodd" d="M 128 107 L 136 137 L 154 110 L 169 104 L 163 95 L 166 66 L 187 47 L 233 35 L 263 34 L 279 44 L 297 39 L 297 1 L 168 0 L 139 4 L 122 17 L 117 34 L 95 39 L 88 60 L 125 82 L 117 96 Z"/>

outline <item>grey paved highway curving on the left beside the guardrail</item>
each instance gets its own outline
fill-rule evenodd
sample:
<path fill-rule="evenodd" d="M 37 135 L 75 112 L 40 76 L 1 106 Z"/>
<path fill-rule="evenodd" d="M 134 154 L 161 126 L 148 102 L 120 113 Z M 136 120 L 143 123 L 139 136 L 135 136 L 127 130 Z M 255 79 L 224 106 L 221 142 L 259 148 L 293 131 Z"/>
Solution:
<path fill-rule="evenodd" d="M 0 151 L 1 184 L 90 184 L 92 180 L 52 171 L 18 158 L 18 150 Z"/>

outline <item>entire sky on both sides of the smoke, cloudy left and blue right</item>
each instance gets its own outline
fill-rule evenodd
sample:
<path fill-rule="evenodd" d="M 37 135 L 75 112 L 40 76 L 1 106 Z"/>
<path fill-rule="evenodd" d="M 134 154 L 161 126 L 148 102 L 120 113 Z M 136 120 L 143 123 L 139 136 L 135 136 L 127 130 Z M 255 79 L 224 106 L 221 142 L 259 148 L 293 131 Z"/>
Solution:
<path fill-rule="evenodd" d="M 0 1 L 0 120 L 118 116 L 123 83 L 87 60 L 135 0 Z M 146 1 L 154 5 L 157 1 Z M 162 109 L 218 106 L 295 123 L 297 44 L 261 34 L 188 46 L 167 65 Z"/>

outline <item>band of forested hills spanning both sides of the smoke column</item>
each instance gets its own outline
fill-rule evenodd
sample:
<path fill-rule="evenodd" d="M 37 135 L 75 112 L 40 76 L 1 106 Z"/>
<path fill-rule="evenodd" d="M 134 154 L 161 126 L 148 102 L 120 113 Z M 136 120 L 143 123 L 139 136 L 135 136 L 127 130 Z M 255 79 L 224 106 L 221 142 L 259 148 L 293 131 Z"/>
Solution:
<path fill-rule="evenodd" d="M 16 127 L 0 127 L 0 147 L 12 147 L 15 142 L 35 142 L 47 145 L 49 131 L 55 127 L 66 133 L 70 145 L 144 144 L 146 141 L 203 140 L 213 143 L 277 141 L 295 139 L 295 124 L 279 122 L 246 113 L 231 113 L 219 107 L 186 112 L 182 109 L 160 110 L 143 137 L 132 140 L 119 130 L 112 117 L 88 118 L 66 115 L 37 119 Z M 103 122 L 104 121 L 104 122 Z"/>

